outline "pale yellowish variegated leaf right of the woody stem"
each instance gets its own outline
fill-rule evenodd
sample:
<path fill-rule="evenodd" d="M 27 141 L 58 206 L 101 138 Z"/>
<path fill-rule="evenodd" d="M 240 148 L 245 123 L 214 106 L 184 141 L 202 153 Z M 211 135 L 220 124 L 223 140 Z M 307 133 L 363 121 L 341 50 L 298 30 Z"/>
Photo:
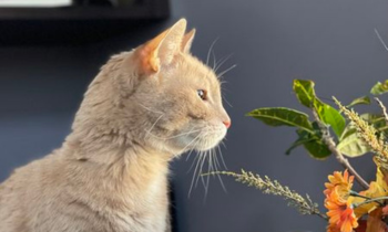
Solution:
<path fill-rule="evenodd" d="M 337 145 L 337 149 L 348 157 L 363 156 L 370 151 L 369 146 L 357 136 L 357 131 L 354 129 L 353 134 L 349 134 Z"/>

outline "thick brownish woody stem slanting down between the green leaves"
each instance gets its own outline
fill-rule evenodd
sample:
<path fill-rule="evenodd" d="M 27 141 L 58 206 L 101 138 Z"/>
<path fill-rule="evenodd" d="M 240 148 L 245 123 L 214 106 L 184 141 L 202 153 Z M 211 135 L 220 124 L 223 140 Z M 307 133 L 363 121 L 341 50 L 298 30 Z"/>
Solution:
<path fill-rule="evenodd" d="M 335 155 L 337 161 L 345 168 L 348 169 L 349 172 L 355 176 L 356 181 L 364 188 L 369 189 L 369 184 L 367 181 L 364 180 L 364 178 L 356 171 L 356 169 L 353 168 L 349 160 L 344 157 L 344 155 L 337 149 L 337 145 L 334 141 L 333 137 L 330 136 L 330 131 L 328 130 L 327 126 L 320 120 L 317 112 L 313 109 L 313 115 L 315 119 L 317 120 L 320 131 L 323 134 L 323 140 L 329 148 L 329 150 Z"/>

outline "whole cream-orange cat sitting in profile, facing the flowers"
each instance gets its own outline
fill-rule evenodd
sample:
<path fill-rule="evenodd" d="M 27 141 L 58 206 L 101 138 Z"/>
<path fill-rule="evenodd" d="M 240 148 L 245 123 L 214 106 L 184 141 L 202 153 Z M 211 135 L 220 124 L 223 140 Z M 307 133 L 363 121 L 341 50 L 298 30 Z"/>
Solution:
<path fill-rule="evenodd" d="M 169 161 L 216 146 L 231 125 L 185 28 L 182 19 L 101 68 L 63 146 L 0 186 L 1 232 L 170 230 Z"/>

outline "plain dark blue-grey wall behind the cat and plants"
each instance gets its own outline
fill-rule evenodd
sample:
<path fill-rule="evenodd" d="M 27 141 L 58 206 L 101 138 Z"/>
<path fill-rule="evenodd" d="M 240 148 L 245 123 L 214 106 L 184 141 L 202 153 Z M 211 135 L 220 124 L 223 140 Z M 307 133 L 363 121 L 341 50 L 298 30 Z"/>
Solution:
<path fill-rule="evenodd" d="M 84 48 L 0 46 L 0 180 L 59 147 L 69 133 L 82 94 L 106 59 L 151 39 L 181 17 L 197 28 L 194 55 L 205 60 L 211 43 L 225 68 L 225 104 L 233 125 L 224 157 L 229 170 L 268 175 L 321 204 L 324 181 L 340 166 L 331 157 L 312 159 L 303 149 L 285 156 L 292 128 L 269 128 L 245 117 L 256 107 L 298 106 L 294 78 L 312 78 L 321 97 L 349 102 L 388 77 L 388 0 L 173 0 L 171 20 Z M 0 32 L 1 33 L 1 32 Z M 388 103 L 387 97 L 382 101 Z M 193 159 L 174 161 L 180 232 L 325 231 L 325 222 L 302 217 L 278 198 L 224 178 L 212 179 L 187 198 Z M 351 160 L 370 180 L 370 157 Z"/>

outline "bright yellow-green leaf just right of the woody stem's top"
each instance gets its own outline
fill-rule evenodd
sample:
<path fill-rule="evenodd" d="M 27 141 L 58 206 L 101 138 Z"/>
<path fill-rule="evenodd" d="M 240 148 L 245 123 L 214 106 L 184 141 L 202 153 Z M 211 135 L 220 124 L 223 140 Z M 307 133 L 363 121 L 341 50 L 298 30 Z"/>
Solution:
<path fill-rule="evenodd" d="M 346 120 L 344 116 L 337 109 L 323 103 L 319 99 L 315 101 L 314 106 L 318 113 L 320 120 L 327 125 L 330 125 L 333 128 L 333 131 L 338 137 L 340 137 L 346 126 Z"/>

